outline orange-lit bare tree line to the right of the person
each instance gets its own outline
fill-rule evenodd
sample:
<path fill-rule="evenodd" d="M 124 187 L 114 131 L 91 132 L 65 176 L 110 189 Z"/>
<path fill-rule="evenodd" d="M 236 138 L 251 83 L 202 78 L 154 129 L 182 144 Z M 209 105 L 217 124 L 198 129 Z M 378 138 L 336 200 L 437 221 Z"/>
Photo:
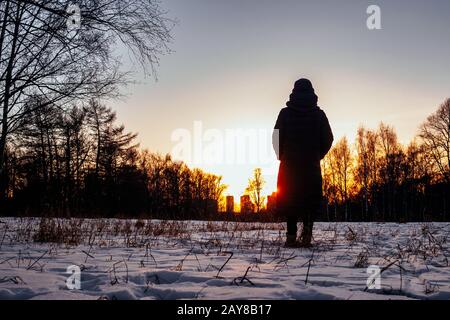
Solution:
<path fill-rule="evenodd" d="M 322 162 L 324 220 L 424 221 L 449 215 L 450 99 L 407 146 L 381 123 L 339 140 Z"/>

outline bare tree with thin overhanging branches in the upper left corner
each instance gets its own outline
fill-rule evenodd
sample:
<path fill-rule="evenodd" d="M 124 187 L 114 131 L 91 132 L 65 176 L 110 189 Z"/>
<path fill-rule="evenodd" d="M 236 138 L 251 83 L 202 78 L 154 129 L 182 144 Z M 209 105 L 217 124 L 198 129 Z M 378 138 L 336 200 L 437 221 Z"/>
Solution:
<path fill-rule="evenodd" d="M 0 177 L 12 133 L 35 108 L 114 97 L 126 82 L 117 45 L 153 71 L 168 52 L 172 21 L 154 0 L 80 0 L 79 28 L 68 29 L 70 0 L 0 1 Z M 30 98 L 40 103 L 27 107 Z M 5 180 L 0 185 L 4 195 Z"/>

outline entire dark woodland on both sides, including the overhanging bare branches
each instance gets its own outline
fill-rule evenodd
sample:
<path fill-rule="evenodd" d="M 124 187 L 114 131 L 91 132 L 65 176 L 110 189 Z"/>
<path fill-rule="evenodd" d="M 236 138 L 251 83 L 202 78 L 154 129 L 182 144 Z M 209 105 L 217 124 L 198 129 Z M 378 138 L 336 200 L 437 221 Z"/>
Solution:
<path fill-rule="evenodd" d="M 117 46 L 146 74 L 169 53 L 175 24 L 154 0 L 0 1 L 0 215 L 276 219 L 219 214 L 221 177 L 142 150 L 102 101 L 132 82 Z M 408 146 L 395 130 L 361 128 L 322 163 L 320 219 L 448 220 L 445 101 Z M 333 124 L 332 124 L 333 125 Z"/>

